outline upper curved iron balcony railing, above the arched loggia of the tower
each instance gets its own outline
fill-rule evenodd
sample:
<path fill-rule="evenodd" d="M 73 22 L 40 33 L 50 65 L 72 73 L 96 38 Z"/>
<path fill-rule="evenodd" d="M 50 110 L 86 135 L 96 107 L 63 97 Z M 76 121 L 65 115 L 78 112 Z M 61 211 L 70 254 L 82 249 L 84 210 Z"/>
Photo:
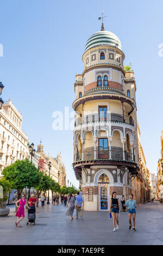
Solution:
<path fill-rule="evenodd" d="M 134 126 L 134 120 L 132 117 L 129 117 L 128 115 L 122 115 L 122 114 L 115 114 L 115 113 L 104 113 L 99 114 L 89 114 L 83 116 L 82 118 L 77 118 L 74 122 L 74 126 L 81 125 L 81 124 L 88 124 L 88 123 L 95 123 L 95 122 L 106 122 L 111 121 L 115 123 L 125 123 L 130 124 Z"/>

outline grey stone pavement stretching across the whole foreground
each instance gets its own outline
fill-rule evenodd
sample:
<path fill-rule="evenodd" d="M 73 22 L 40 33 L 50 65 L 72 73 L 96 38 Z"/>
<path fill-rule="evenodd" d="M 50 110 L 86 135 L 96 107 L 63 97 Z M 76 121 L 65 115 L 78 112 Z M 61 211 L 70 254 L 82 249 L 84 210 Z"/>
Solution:
<path fill-rule="evenodd" d="M 163 204 L 147 203 L 137 208 L 136 232 L 128 230 L 128 214 L 121 212 L 120 229 L 113 232 L 108 212 L 82 211 L 83 220 L 65 215 L 64 205 L 36 209 L 36 225 L 15 226 L 14 206 L 0 218 L 0 245 L 163 245 Z"/>

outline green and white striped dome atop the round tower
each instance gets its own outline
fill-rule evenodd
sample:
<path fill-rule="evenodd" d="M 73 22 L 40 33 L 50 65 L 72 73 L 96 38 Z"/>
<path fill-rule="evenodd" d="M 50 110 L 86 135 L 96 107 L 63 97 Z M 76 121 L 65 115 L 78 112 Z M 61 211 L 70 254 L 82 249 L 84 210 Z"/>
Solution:
<path fill-rule="evenodd" d="M 114 33 L 105 30 L 98 31 L 90 36 L 85 45 L 85 52 L 99 45 L 110 45 L 122 50 L 120 39 Z"/>

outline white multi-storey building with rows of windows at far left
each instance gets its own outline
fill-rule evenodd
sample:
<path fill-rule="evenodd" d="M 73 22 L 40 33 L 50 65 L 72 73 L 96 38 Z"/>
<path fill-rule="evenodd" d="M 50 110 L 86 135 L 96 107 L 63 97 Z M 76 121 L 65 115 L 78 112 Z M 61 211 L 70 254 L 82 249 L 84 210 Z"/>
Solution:
<path fill-rule="evenodd" d="M 22 114 L 11 99 L 4 101 L 0 110 L 0 177 L 2 170 L 11 163 L 29 158 L 29 139 L 21 126 Z"/>

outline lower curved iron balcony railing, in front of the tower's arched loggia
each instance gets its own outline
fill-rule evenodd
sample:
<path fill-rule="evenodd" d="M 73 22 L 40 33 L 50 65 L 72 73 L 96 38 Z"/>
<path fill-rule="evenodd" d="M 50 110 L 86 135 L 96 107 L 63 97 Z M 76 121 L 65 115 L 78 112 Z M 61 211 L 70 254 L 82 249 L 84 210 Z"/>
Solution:
<path fill-rule="evenodd" d="M 124 153 L 124 154 L 123 154 Z M 135 162 L 135 155 L 123 150 L 109 150 L 109 149 L 97 149 L 84 150 L 83 152 L 75 154 L 76 161 L 84 160 L 119 160 L 119 161 L 133 161 Z"/>

